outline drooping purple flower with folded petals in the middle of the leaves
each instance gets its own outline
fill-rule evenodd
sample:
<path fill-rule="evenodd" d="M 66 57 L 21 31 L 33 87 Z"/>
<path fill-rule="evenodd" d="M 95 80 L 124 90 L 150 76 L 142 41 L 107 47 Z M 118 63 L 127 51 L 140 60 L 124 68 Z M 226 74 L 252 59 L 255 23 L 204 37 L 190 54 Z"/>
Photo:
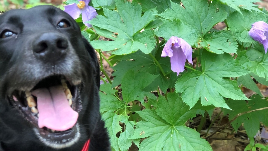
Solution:
<path fill-rule="evenodd" d="M 161 57 L 170 57 L 171 70 L 177 72 L 184 71 L 186 59 L 193 64 L 192 47 L 183 39 L 172 36 L 164 46 Z"/>

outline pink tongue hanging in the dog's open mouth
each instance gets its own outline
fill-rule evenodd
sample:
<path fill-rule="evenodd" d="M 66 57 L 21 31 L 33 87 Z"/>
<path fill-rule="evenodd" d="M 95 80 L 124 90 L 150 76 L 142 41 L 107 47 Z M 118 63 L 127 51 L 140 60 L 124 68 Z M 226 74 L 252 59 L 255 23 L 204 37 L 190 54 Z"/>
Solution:
<path fill-rule="evenodd" d="M 71 109 L 62 86 L 36 89 L 32 94 L 37 97 L 39 128 L 65 131 L 74 126 L 78 112 Z"/>

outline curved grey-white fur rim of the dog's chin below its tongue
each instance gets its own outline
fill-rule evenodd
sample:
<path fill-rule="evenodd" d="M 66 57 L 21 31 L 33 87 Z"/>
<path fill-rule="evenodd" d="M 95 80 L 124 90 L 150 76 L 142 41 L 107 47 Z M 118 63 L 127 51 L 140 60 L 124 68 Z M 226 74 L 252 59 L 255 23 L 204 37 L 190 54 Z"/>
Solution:
<path fill-rule="evenodd" d="M 75 134 L 74 138 L 72 138 L 71 140 L 69 140 L 67 143 L 57 143 L 57 142 L 53 142 L 53 141 L 50 141 L 50 140 L 46 140 L 45 138 L 43 138 L 38 129 L 37 128 L 33 128 L 34 132 L 35 132 L 35 135 L 38 137 L 38 139 L 44 143 L 46 146 L 49 146 L 51 148 L 54 148 L 54 149 L 62 149 L 62 148 L 67 148 L 67 147 L 70 147 L 72 145 L 74 145 L 76 142 L 78 142 L 81 134 L 80 134 L 80 130 L 79 130 L 79 124 L 76 123 L 76 128 L 77 128 L 77 133 Z"/>

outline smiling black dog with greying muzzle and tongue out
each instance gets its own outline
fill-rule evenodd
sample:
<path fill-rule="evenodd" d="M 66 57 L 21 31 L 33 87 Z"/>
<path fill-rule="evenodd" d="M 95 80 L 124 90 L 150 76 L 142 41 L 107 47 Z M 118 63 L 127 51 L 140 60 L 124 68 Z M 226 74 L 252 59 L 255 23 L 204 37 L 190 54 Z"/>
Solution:
<path fill-rule="evenodd" d="M 99 65 L 78 24 L 53 6 L 0 15 L 0 150 L 110 150 Z"/>

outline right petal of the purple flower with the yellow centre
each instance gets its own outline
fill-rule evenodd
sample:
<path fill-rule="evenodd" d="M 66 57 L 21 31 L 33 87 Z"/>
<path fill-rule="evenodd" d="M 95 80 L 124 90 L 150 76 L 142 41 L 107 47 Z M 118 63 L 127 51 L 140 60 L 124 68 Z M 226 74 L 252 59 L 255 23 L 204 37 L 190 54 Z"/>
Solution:
<path fill-rule="evenodd" d="M 84 24 L 88 27 L 92 27 L 92 25 L 85 23 L 85 22 L 95 18 L 97 15 L 98 13 L 96 12 L 96 9 L 91 6 L 85 6 L 82 9 L 82 20 Z"/>

